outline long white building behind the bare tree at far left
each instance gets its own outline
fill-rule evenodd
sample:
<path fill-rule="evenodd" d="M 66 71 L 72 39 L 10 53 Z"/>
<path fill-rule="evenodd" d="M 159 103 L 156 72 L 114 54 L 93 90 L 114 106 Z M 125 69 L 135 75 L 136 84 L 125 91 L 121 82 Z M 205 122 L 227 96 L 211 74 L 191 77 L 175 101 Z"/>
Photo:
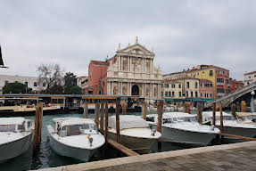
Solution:
<path fill-rule="evenodd" d="M 2 94 L 4 85 L 15 82 L 27 85 L 27 87 L 32 88 L 34 92 L 44 90 L 47 86 L 46 83 L 39 84 L 38 77 L 0 75 L 0 93 Z"/>

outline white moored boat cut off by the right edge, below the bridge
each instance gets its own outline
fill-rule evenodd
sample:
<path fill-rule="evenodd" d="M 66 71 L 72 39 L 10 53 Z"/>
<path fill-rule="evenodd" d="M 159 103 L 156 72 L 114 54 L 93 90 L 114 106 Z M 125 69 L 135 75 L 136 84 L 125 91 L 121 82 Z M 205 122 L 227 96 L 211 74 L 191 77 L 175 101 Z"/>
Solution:
<path fill-rule="evenodd" d="M 220 128 L 220 112 L 216 111 L 215 125 Z M 207 122 L 212 122 L 212 111 L 202 112 L 202 119 Z M 246 137 L 256 137 L 256 123 L 251 119 L 244 117 L 233 118 L 229 113 L 223 112 L 223 132 L 225 134 L 235 134 Z M 229 137 L 228 137 L 229 138 Z M 234 139 L 234 138 L 229 138 Z"/>

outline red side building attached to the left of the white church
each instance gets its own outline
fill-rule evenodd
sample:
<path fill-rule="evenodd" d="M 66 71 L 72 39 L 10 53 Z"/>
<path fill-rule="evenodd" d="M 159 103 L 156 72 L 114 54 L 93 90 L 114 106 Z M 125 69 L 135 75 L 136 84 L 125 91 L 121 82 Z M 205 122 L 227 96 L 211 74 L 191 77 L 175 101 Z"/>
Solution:
<path fill-rule="evenodd" d="M 88 67 L 88 86 L 84 94 L 107 94 L 107 61 L 91 61 Z"/>

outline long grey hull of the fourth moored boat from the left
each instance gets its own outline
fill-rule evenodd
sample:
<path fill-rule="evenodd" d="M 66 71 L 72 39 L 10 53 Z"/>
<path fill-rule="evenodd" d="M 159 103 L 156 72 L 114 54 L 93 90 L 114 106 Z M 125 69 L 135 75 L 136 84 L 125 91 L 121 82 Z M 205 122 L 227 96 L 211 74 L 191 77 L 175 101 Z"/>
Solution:
<path fill-rule="evenodd" d="M 157 129 L 156 125 L 153 125 L 153 129 Z M 168 142 L 188 143 L 197 146 L 206 146 L 216 137 L 217 134 L 208 134 L 200 132 L 192 132 L 172 127 L 161 127 L 161 139 Z"/>

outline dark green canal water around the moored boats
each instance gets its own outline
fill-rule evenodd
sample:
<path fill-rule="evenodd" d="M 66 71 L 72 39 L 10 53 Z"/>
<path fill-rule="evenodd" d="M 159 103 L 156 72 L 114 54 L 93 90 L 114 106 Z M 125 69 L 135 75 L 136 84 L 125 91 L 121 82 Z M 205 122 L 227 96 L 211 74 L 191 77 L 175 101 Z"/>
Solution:
<path fill-rule="evenodd" d="M 141 115 L 141 113 L 128 113 L 133 115 Z M 114 114 L 111 114 L 114 115 Z M 60 167 L 71 164 L 78 164 L 82 161 L 77 159 L 70 159 L 67 157 L 62 157 L 50 148 L 49 139 L 47 136 L 46 126 L 53 124 L 53 118 L 62 118 L 62 117 L 82 117 L 82 114 L 78 113 L 70 113 L 70 114 L 58 114 L 58 115 L 45 115 L 43 117 L 43 127 L 42 127 L 42 141 L 40 146 L 40 151 L 37 153 L 35 157 L 32 157 L 32 149 L 21 156 L 8 160 L 5 163 L 0 163 L 0 171 L 20 171 L 20 170 L 29 170 L 29 169 L 38 169 L 38 168 L 46 168 L 46 167 Z M 93 118 L 94 114 L 89 114 L 89 118 Z M 34 120 L 33 116 L 25 117 Z M 21 147 L 22 148 L 22 147 Z M 161 142 L 161 149 L 158 148 L 158 144 L 155 143 L 153 145 L 153 152 L 160 151 L 176 151 L 180 149 L 190 148 L 184 146 L 183 144 L 174 144 L 170 142 Z M 100 159 L 111 159 L 114 157 L 121 157 L 121 154 L 114 154 L 116 151 L 109 150 L 99 152 L 95 154 L 95 157 L 91 160 L 100 160 Z"/>

